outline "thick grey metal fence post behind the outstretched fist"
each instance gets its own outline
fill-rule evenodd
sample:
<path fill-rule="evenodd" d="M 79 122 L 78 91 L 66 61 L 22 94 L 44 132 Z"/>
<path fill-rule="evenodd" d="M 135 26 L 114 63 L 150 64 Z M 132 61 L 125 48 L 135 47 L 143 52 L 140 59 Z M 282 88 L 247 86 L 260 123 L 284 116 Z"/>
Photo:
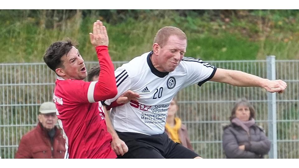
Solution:
<path fill-rule="evenodd" d="M 276 80 L 275 56 L 267 56 L 267 78 Z M 276 93 L 268 92 L 268 138 L 271 143 L 269 158 L 277 159 Z"/>

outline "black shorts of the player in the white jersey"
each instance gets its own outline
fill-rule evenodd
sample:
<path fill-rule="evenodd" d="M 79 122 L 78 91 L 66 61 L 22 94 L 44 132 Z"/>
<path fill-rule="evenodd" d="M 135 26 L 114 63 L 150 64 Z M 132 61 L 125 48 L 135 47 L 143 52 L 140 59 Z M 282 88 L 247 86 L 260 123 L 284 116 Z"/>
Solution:
<path fill-rule="evenodd" d="M 117 132 L 117 131 L 116 131 Z M 173 142 L 166 133 L 145 135 L 141 133 L 117 132 L 129 151 L 117 158 L 186 158 L 193 159 L 198 155 L 192 150 Z"/>

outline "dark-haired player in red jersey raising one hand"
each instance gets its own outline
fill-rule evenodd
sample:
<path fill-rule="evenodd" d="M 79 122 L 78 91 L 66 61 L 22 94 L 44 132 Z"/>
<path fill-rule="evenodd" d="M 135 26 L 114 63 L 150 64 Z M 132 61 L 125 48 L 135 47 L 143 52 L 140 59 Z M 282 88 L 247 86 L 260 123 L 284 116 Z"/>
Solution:
<path fill-rule="evenodd" d="M 84 60 L 70 41 L 51 44 L 44 55 L 45 63 L 58 76 L 53 100 L 66 141 L 64 158 L 116 158 L 100 102 L 117 94 L 109 39 L 101 21 L 94 22 L 89 36 L 101 67 L 98 81 L 83 81 L 87 76 Z"/>

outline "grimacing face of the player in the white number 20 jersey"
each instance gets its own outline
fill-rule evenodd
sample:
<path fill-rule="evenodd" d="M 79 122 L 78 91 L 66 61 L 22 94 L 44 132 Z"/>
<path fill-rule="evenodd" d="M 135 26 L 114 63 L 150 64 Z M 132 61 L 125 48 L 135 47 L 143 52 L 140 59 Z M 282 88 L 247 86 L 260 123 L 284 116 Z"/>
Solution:
<path fill-rule="evenodd" d="M 159 66 L 162 72 L 172 72 L 181 62 L 187 48 L 187 40 L 181 40 L 176 35 L 168 38 L 168 41 L 159 51 Z"/>

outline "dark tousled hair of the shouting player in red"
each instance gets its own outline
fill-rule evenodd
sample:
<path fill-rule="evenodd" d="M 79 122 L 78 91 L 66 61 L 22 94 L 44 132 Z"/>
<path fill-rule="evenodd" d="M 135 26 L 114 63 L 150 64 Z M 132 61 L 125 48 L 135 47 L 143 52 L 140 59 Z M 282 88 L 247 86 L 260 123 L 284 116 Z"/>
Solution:
<path fill-rule="evenodd" d="M 57 41 L 51 44 L 50 47 L 46 50 L 43 57 L 45 63 L 54 72 L 56 68 L 62 68 L 63 62 L 61 61 L 61 57 L 68 54 L 72 47 L 75 45 L 76 44 L 73 44 L 70 40 Z"/>

